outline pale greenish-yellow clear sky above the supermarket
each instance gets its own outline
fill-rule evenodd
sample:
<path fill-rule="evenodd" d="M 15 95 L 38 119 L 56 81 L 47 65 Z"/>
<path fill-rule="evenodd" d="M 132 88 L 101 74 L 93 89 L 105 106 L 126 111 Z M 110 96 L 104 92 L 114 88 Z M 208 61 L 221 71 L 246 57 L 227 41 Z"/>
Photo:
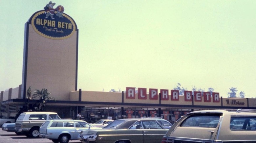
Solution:
<path fill-rule="evenodd" d="M 55 0 L 79 29 L 78 89 L 229 88 L 256 97 L 255 0 Z M 0 91 L 22 81 L 24 24 L 49 0 L 0 0 Z"/>

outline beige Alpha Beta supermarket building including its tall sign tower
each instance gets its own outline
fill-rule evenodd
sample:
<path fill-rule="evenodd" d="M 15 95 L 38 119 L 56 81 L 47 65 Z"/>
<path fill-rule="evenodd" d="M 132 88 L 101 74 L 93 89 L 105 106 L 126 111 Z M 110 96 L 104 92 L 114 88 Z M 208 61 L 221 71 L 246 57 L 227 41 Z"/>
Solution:
<path fill-rule="evenodd" d="M 53 15 L 52 15 L 53 14 Z M 48 17 L 47 17 L 48 16 Z M 47 17 L 47 18 L 46 18 Z M 14 117 L 25 106 L 26 89 L 46 88 L 56 101 L 46 111 L 61 118 L 75 118 L 81 112 L 87 121 L 161 117 L 174 121 L 195 110 L 256 109 L 256 99 L 223 98 L 218 92 L 126 87 L 123 92 L 77 89 L 78 29 L 64 7 L 35 12 L 25 23 L 22 84 L 1 91 L 0 115 Z M 33 100 L 32 102 L 36 102 Z"/>

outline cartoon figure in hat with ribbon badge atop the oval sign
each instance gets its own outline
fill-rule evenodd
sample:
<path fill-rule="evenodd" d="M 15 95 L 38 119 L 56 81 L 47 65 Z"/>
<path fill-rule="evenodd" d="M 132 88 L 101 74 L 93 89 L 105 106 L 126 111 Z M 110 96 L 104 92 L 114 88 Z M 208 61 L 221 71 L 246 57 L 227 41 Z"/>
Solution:
<path fill-rule="evenodd" d="M 55 5 L 55 3 L 53 2 L 49 2 L 45 7 L 44 7 L 44 10 L 45 10 L 45 14 L 46 14 L 46 17 L 45 18 L 48 18 L 49 16 L 53 18 L 53 15 L 55 14 L 55 11 L 57 11 L 56 13 L 56 16 L 58 17 L 63 17 L 62 13 L 64 12 L 64 7 L 62 6 L 58 6 L 57 8 L 53 8 L 53 6 Z"/>

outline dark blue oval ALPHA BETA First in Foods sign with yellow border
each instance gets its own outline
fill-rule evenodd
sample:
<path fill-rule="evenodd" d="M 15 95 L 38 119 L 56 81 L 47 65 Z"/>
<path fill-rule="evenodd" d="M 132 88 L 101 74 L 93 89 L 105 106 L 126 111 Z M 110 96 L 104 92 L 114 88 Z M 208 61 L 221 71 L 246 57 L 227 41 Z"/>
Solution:
<path fill-rule="evenodd" d="M 39 35 L 54 40 L 66 39 L 73 35 L 76 26 L 71 17 L 58 11 L 49 15 L 49 12 L 47 14 L 43 10 L 36 12 L 32 17 L 32 27 Z"/>

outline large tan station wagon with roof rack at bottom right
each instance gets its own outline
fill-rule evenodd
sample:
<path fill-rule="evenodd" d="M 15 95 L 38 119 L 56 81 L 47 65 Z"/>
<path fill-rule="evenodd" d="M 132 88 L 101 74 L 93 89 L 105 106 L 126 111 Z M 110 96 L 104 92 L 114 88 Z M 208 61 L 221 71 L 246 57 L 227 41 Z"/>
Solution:
<path fill-rule="evenodd" d="M 184 115 L 161 143 L 256 143 L 256 110 L 202 110 Z"/>

